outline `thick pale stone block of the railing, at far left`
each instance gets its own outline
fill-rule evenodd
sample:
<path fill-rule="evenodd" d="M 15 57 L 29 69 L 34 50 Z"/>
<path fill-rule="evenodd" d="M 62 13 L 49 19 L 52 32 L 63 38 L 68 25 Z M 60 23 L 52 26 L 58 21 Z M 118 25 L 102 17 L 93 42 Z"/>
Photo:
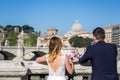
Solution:
<path fill-rule="evenodd" d="M 0 80 L 27 80 L 27 72 L 20 61 L 0 61 Z"/>

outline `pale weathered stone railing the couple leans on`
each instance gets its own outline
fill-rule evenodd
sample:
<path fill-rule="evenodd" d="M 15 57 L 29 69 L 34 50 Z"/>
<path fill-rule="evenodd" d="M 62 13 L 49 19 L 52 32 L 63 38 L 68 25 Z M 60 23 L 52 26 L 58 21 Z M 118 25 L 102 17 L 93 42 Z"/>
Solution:
<path fill-rule="evenodd" d="M 120 62 L 118 73 L 120 74 Z M 91 80 L 91 67 L 75 64 L 75 73 L 68 80 Z M 48 67 L 35 61 L 0 61 L 0 80 L 46 80 Z"/>

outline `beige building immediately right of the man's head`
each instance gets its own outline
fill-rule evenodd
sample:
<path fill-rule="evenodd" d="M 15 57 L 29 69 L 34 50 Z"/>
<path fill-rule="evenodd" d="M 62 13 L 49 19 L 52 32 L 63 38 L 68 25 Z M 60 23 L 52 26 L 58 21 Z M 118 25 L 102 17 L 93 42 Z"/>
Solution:
<path fill-rule="evenodd" d="M 109 25 L 104 28 L 105 30 L 105 42 L 106 43 L 112 43 L 112 25 Z"/>

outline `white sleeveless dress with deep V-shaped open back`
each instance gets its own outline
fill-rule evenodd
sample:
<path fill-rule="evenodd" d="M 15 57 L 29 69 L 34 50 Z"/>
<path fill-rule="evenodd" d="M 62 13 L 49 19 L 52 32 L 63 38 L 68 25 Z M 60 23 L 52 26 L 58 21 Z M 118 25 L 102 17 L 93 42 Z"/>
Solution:
<path fill-rule="evenodd" d="M 49 70 L 49 76 L 47 80 L 66 80 L 65 77 L 65 55 L 62 56 L 61 58 L 61 63 L 56 72 L 52 70 L 49 62 L 48 62 L 48 56 L 46 56 L 46 62 L 48 64 L 48 70 Z"/>

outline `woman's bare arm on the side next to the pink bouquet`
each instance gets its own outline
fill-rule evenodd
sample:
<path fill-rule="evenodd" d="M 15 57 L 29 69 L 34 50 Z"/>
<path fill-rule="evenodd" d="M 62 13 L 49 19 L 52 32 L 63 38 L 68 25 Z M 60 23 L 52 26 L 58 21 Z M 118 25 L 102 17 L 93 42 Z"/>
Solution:
<path fill-rule="evenodd" d="M 69 62 L 68 56 L 65 57 L 65 66 L 69 74 L 74 71 L 74 64 Z"/>

